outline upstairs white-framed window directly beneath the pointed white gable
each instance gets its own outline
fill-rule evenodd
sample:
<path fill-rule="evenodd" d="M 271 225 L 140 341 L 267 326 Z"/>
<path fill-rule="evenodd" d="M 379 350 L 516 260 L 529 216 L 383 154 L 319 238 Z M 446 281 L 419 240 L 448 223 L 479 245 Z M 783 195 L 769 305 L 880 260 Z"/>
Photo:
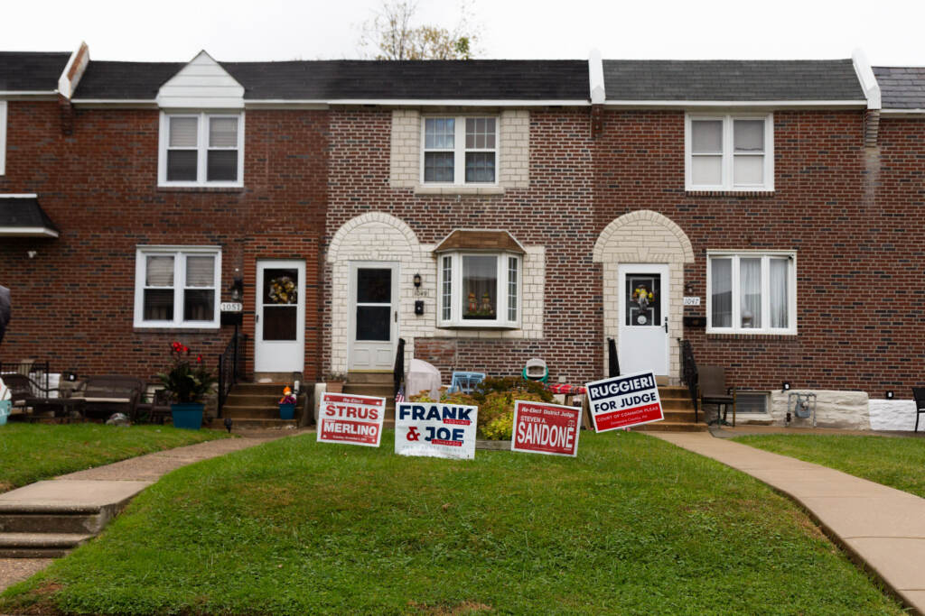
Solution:
<path fill-rule="evenodd" d="M 243 124 L 243 114 L 161 115 L 158 184 L 242 186 Z"/>

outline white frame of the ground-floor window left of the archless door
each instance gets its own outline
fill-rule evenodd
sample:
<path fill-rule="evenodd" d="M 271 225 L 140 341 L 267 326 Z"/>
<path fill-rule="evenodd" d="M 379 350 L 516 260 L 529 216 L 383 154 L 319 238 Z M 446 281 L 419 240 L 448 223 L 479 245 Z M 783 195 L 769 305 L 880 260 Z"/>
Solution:
<path fill-rule="evenodd" d="M 144 320 L 144 288 L 147 280 L 147 257 L 174 258 L 174 318 L 173 320 Z M 214 272 L 215 306 L 213 320 L 183 320 L 183 297 L 186 291 L 187 256 L 212 256 L 216 259 Z M 219 304 L 221 301 L 222 249 L 214 246 L 139 246 L 135 249 L 135 320 L 137 328 L 218 329 L 221 327 Z M 205 287 L 203 287 L 205 288 Z"/>

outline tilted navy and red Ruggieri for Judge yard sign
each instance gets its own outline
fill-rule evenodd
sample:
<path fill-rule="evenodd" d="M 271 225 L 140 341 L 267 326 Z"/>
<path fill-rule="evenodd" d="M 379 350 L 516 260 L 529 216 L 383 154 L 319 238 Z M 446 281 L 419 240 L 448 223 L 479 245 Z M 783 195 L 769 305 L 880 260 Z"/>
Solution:
<path fill-rule="evenodd" d="M 594 429 L 629 428 L 664 419 L 655 373 L 635 372 L 587 383 Z"/>

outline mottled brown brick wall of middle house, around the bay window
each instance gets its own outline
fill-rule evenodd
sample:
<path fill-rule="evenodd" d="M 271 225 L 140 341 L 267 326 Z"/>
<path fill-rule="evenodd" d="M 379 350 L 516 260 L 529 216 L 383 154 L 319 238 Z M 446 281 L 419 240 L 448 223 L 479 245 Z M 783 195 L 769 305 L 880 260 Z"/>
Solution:
<path fill-rule="evenodd" d="M 590 216 L 588 117 L 587 110 L 532 112 L 530 188 L 509 189 L 503 196 L 457 199 L 415 196 L 410 188 L 388 186 L 390 111 L 331 112 L 326 242 L 351 218 L 366 211 L 385 211 L 411 226 L 424 244 L 437 244 L 454 228 L 465 227 L 506 229 L 524 245 L 546 247 L 543 339 L 416 338 L 415 355 L 440 368 L 445 381 L 449 382 L 453 368 L 520 374 L 526 360 L 534 356 L 546 359 L 554 378 L 561 374 L 578 382 L 598 375 L 603 361 L 599 344 L 602 307 L 600 275 L 591 260 L 598 231 Z M 327 267 L 328 281 L 330 274 Z M 326 365 L 330 360 L 330 323 L 328 305 Z"/>

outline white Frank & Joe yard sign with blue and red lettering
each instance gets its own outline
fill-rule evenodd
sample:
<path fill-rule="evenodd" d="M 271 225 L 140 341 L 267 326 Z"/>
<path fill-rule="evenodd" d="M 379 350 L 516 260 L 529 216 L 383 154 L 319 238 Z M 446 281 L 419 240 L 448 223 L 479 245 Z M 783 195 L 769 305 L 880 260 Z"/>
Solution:
<path fill-rule="evenodd" d="M 395 453 L 475 458 L 478 406 L 405 402 L 395 408 Z"/>

